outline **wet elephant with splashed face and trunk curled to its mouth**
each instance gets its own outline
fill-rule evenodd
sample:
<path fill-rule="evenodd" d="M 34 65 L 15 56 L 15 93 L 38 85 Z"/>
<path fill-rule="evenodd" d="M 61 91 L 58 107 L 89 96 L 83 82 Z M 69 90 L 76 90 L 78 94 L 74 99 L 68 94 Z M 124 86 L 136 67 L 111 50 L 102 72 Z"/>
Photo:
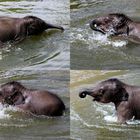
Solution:
<path fill-rule="evenodd" d="M 90 23 L 90 27 L 102 34 L 140 38 L 140 22 L 132 21 L 120 13 L 98 17 Z"/>

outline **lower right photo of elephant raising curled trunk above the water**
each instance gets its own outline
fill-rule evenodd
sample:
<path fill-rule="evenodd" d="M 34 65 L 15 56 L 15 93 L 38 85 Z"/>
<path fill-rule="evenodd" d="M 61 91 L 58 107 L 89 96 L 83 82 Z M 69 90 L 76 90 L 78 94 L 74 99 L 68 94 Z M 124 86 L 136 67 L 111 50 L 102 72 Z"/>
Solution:
<path fill-rule="evenodd" d="M 123 122 L 122 124 L 122 122 L 118 121 L 117 115 L 119 113 L 131 114 L 132 106 L 137 113 L 139 112 L 139 101 L 137 99 L 140 98 L 140 70 L 72 70 L 70 78 L 70 130 L 72 139 L 139 139 L 140 121 L 135 120 L 136 116 L 132 116 L 132 118 L 127 120 L 127 123 Z M 106 85 L 104 82 L 104 86 L 101 84 L 103 81 L 107 81 Z M 118 83 L 121 83 L 121 85 L 125 84 L 124 87 L 128 92 L 127 96 L 127 93 L 123 90 L 125 98 L 121 99 L 122 96 L 118 96 L 118 94 L 121 93 L 122 95 L 122 92 L 117 86 L 117 89 L 119 89 L 119 92 L 116 92 L 117 96 L 115 96 L 114 91 L 111 98 L 109 98 L 110 100 L 120 101 L 116 108 L 113 101 L 107 103 L 106 100 L 105 103 L 104 100 L 104 103 L 102 103 L 103 99 L 101 100 L 101 89 L 103 91 L 103 88 L 107 90 L 107 86 L 110 86 L 110 88 L 111 86 L 112 88 L 115 87 L 113 81 L 119 81 Z M 100 92 L 98 92 L 99 96 L 94 95 L 93 97 L 93 94 L 97 94 L 99 87 L 101 88 Z M 81 94 L 83 91 L 86 91 L 84 95 Z M 92 96 L 89 91 L 93 92 Z M 109 96 L 107 92 L 102 93 L 106 97 Z M 135 101 L 132 103 L 132 100 Z M 126 105 L 129 105 L 129 107 L 127 108 Z M 117 111 L 117 108 L 120 106 L 123 112 Z M 130 109 L 129 112 L 127 112 L 127 109 Z"/>

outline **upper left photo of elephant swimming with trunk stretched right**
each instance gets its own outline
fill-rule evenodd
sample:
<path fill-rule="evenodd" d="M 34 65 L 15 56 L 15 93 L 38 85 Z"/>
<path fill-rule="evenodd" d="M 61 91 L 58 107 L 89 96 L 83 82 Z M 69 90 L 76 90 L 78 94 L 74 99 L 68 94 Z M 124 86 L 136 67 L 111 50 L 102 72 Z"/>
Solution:
<path fill-rule="evenodd" d="M 59 2 L 57 0 L 7 0 L 0 2 L 0 8 L 2 9 L 0 16 L 4 16 L 4 19 L 0 20 L 0 40 L 4 41 L 0 43 L 2 48 L 0 70 L 69 70 L 69 0 Z M 41 24 L 42 21 L 37 23 L 37 20 L 33 18 L 23 19 L 27 16 L 40 18 L 45 23 L 62 27 L 64 30 L 46 27 L 46 30 L 36 34 L 37 31 L 42 30 L 44 25 Z M 15 19 L 17 22 L 13 23 L 11 18 L 22 19 Z M 26 29 L 27 25 L 21 24 L 23 21 L 34 22 L 29 23 Z M 11 34 L 15 37 L 12 38 Z"/>

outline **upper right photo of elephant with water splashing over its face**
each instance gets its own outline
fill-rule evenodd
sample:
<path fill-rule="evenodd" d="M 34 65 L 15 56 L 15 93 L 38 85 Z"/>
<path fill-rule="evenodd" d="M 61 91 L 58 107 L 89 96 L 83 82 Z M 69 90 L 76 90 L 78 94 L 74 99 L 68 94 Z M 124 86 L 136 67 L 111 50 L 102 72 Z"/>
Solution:
<path fill-rule="evenodd" d="M 139 5 L 139 0 L 71 0 L 71 69 L 140 68 Z M 113 13 L 118 16 L 109 16 Z"/>

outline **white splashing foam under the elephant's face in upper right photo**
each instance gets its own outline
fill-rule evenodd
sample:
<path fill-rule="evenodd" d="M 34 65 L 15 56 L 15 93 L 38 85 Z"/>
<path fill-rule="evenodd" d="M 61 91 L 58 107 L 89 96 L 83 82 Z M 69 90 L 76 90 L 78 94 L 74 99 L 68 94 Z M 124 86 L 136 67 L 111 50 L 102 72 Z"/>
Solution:
<path fill-rule="evenodd" d="M 127 40 L 112 40 L 108 37 L 109 35 L 103 35 L 98 32 L 89 32 L 87 29 L 76 29 L 73 28 L 72 33 L 70 34 L 71 42 L 76 40 L 82 41 L 84 44 L 89 45 L 89 49 L 97 48 L 99 46 L 112 45 L 113 47 L 123 47 L 128 44 Z"/>

